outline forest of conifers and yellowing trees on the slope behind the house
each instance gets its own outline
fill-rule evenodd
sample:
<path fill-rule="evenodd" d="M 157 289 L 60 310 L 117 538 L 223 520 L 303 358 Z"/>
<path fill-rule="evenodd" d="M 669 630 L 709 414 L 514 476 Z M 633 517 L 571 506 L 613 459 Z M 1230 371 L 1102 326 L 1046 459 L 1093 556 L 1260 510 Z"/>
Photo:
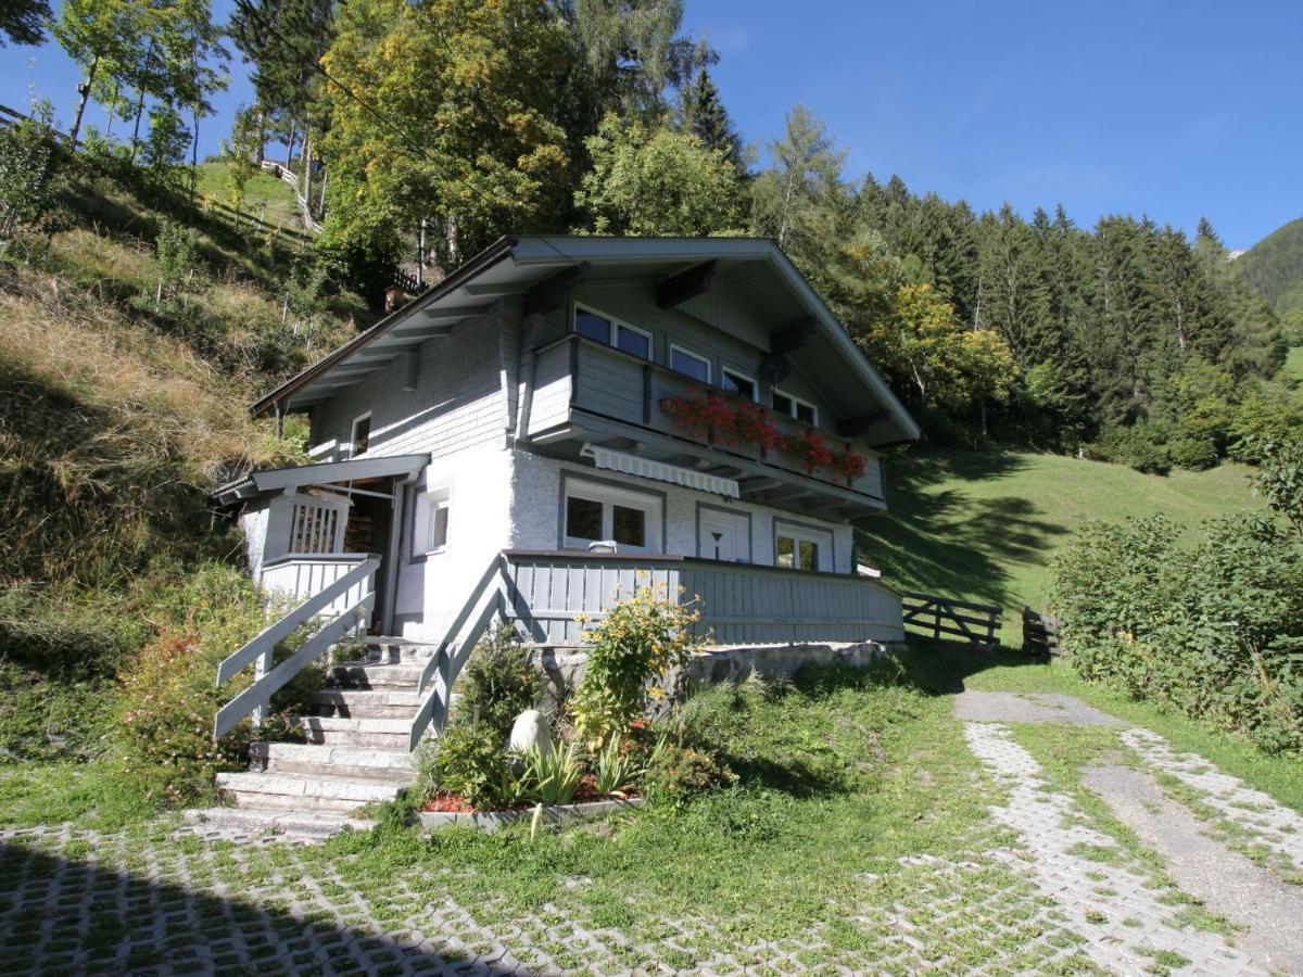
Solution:
<path fill-rule="evenodd" d="M 506 233 L 761 234 L 933 442 L 1165 472 L 1253 462 L 1303 425 L 1281 374 L 1303 319 L 1273 310 L 1207 220 L 1190 240 L 1143 215 L 1079 227 L 1049 202 L 1028 219 L 851 178 L 801 106 L 745 143 L 711 77 L 719 53 L 683 12 L 237 0 L 218 26 L 208 0 L 68 0 L 51 30 L 86 73 L 73 142 L 181 186 L 211 94 L 248 64 L 257 98 L 224 142 L 225 194 L 238 210 L 263 159 L 298 176 L 322 228 L 285 276 L 300 297 L 375 305 L 396 272 L 427 285 Z M 90 96 L 103 132 L 83 126 Z"/>

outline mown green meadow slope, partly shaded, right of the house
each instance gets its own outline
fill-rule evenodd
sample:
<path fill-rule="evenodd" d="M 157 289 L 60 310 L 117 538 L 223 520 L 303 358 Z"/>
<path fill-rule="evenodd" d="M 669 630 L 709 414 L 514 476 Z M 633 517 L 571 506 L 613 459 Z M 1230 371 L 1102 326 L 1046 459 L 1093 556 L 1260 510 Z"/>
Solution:
<path fill-rule="evenodd" d="M 994 603 L 1020 641 L 1023 606 L 1045 606 L 1050 558 L 1088 520 L 1164 513 L 1187 528 L 1256 508 L 1248 469 L 1148 475 L 1059 455 L 913 451 L 887 465 L 889 511 L 860 534 L 860 561 L 894 586 Z"/>

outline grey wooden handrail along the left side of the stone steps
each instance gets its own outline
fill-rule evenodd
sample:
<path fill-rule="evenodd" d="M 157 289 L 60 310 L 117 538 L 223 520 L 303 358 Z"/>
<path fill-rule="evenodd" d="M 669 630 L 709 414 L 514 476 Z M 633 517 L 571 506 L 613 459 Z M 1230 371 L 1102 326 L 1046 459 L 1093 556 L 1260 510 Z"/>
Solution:
<path fill-rule="evenodd" d="M 254 722 L 262 719 L 271 697 L 308 664 L 317 660 L 326 649 L 339 641 L 352 629 L 365 629 L 375 604 L 375 571 L 380 558 L 374 554 L 341 554 L 341 561 L 356 561 L 348 573 L 332 584 L 308 597 L 274 624 L 262 629 L 253 641 L 218 666 L 218 688 L 255 664 L 253 684 L 218 710 L 212 720 L 212 735 L 225 736 L 249 714 Z M 351 589 L 361 584 L 362 595 L 348 603 L 343 610 L 332 611 L 331 604 Z M 289 658 L 272 667 L 272 653 L 281 641 L 314 617 L 322 620 L 322 627 L 305 641 Z"/>

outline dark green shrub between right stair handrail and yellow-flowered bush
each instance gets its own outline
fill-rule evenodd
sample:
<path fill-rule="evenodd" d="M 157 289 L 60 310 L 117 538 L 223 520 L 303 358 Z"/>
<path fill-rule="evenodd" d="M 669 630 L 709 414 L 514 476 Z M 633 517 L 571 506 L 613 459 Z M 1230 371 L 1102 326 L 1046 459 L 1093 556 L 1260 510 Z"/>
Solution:
<path fill-rule="evenodd" d="M 516 716 L 536 709 L 543 697 L 543 675 L 529 659 L 529 649 L 511 625 L 481 638 L 457 676 L 456 720 L 478 723 L 499 745 L 506 743 Z"/>

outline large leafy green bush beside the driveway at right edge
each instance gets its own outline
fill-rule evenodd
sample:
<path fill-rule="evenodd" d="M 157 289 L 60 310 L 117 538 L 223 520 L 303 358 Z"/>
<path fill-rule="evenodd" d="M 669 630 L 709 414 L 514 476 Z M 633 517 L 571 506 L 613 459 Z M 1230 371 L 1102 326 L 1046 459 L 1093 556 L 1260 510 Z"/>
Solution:
<path fill-rule="evenodd" d="M 1303 548 L 1257 516 L 1187 551 L 1158 517 L 1092 524 L 1055 559 L 1053 606 L 1075 668 L 1239 732 L 1303 749 Z"/>

